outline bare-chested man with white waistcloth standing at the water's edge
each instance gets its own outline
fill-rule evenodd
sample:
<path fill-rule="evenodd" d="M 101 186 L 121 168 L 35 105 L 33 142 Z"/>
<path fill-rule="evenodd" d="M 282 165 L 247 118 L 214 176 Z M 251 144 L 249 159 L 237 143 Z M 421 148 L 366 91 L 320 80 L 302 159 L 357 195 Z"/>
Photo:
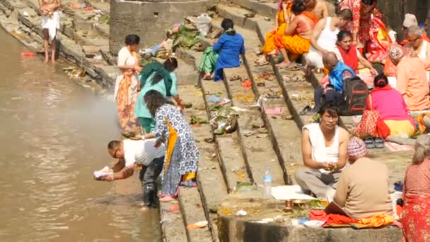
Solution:
<path fill-rule="evenodd" d="M 51 61 L 55 63 L 55 49 L 57 47 L 57 30 L 59 29 L 59 11 L 62 6 L 61 0 L 39 0 L 39 10 L 42 12 L 42 29 L 43 38 L 45 39 L 45 62 L 50 59 L 51 43 Z"/>

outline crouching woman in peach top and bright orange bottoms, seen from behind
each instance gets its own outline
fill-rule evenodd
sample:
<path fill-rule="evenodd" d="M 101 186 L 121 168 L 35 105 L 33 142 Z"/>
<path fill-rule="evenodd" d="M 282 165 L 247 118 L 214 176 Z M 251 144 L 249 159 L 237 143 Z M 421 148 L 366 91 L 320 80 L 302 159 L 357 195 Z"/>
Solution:
<path fill-rule="evenodd" d="M 291 60 L 294 60 L 309 52 L 310 35 L 312 35 L 316 21 L 318 21 L 315 14 L 306 11 L 303 0 L 294 0 L 291 11 L 295 15 L 293 21 L 285 29 L 285 35 L 275 39 L 275 45 L 284 58 L 284 61 L 277 64 L 277 67 L 286 67 L 290 64 L 288 54 L 291 54 Z"/>

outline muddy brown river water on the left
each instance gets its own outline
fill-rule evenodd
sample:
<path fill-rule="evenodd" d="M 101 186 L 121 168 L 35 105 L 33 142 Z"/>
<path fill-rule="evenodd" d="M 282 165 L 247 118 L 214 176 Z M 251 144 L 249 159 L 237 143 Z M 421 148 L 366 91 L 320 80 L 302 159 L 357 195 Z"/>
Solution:
<path fill-rule="evenodd" d="M 70 80 L 64 64 L 25 58 L 0 30 L 0 241 L 160 241 L 156 210 L 140 212 L 134 177 L 92 173 L 119 138 L 110 98 Z"/>

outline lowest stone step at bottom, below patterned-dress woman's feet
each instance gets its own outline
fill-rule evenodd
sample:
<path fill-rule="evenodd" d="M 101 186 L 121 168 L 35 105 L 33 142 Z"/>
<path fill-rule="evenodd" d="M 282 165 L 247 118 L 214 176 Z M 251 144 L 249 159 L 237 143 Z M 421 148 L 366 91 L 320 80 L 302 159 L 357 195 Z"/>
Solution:
<path fill-rule="evenodd" d="M 187 231 L 180 209 L 170 211 L 178 206 L 178 201 L 160 202 L 160 224 L 163 232 L 163 241 L 187 241 Z"/>

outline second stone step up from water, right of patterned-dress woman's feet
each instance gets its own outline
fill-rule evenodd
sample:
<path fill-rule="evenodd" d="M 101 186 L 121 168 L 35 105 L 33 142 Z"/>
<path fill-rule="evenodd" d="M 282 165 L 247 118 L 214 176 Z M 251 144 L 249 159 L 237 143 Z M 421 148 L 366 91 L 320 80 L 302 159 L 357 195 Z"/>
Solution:
<path fill-rule="evenodd" d="M 199 221 L 207 221 L 197 188 L 179 188 L 179 204 L 185 228 Z M 201 229 L 186 229 L 189 242 L 212 241 L 208 226 Z"/>

